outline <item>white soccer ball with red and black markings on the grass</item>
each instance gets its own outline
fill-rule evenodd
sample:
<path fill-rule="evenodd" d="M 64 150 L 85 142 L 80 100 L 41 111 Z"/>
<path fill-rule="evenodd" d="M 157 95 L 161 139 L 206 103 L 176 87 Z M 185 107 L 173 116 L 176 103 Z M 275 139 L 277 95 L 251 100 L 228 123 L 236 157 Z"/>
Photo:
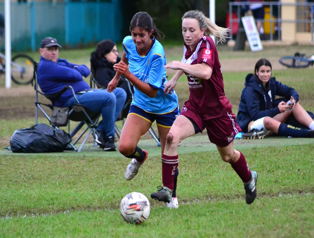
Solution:
<path fill-rule="evenodd" d="M 120 213 L 128 223 L 142 224 L 149 216 L 150 204 L 142 193 L 132 192 L 127 194 L 120 203 Z"/>

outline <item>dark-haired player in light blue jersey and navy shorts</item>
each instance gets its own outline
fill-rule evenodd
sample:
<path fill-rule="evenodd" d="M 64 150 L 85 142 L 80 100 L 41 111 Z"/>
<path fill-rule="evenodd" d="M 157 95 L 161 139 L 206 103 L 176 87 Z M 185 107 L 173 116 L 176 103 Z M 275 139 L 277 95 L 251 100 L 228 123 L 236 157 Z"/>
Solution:
<path fill-rule="evenodd" d="M 133 101 L 119 140 L 120 153 L 132 159 L 124 174 L 127 180 L 136 176 L 139 167 L 148 157 L 148 152 L 137 146 L 140 137 L 156 120 L 163 155 L 166 136 L 179 114 L 176 93 L 173 90 L 171 94 L 164 93 L 165 52 L 158 41 L 160 33 L 149 14 L 136 13 L 130 23 L 130 32 L 131 36 L 123 40 L 121 61 L 113 66 L 116 75 L 107 87 L 108 92 L 112 92 L 121 74 L 134 86 Z M 173 170 L 173 163 L 176 161 L 162 159 L 162 170 L 171 171 L 171 183 L 176 185 L 178 170 Z M 177 208 L 175 192 L 172 191 L 172 198 L 170 196 L 167 202 L 168 207 Z"/>

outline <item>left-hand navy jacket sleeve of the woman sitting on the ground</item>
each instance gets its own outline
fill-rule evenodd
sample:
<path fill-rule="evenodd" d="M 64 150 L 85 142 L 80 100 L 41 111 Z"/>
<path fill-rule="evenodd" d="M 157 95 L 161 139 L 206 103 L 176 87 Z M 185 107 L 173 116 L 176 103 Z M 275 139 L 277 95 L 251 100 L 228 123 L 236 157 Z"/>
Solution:
<path fill-rule="evenodd" d="M 260 109 L 260 98 L 258 97 L 258 94 L 254 92 L 254 89 L 252 87 L 247 87 L 244 94 L 244 99 L 246 102 L 248 113 L 254 121 L 266 116 L 274 117 L 275 115 L 280 113 L 278 107 L 262 111 Z"/>

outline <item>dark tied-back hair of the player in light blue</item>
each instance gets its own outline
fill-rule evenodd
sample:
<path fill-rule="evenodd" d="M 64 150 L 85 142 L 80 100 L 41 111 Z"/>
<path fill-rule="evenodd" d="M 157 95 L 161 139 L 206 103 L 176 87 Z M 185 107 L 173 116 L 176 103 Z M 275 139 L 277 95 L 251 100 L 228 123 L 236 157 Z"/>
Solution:
<path fill-rule="evenodd" d="M 157 27 L 155 26 L 153 22 L 153 19 L 150 17 L 150 15 L 147 12 L 138 12 L 133 16 L 130 23 L 130 32 L 135 27 L 144 29 L 147 32 L 154 30 L 152 35 L 158 41 L 161 41 L 165 37 L 165 35 L 157 29 Z"/>

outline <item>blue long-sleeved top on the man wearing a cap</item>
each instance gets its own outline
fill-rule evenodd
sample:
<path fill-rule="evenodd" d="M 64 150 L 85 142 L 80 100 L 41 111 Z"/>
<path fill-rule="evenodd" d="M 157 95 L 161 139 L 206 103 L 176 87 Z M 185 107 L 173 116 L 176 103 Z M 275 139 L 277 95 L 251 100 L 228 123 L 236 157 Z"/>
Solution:
<path fill-rule="evenodd" d="M 47 95 L 57 93 L 68 85 L 71 85 L 77 93 L 90 89 L 82 77 L 87 77 L 89 73 L 89 68 L 85 65 L 71 64 L 65 59 L 58 59 L 55 63 L 41 56 L 37 68 L 37 81 L 41 91 Z M 68 89 L 54 104 L 62 107 L 71 97 L 73 93 L 71 89 Z"/>

